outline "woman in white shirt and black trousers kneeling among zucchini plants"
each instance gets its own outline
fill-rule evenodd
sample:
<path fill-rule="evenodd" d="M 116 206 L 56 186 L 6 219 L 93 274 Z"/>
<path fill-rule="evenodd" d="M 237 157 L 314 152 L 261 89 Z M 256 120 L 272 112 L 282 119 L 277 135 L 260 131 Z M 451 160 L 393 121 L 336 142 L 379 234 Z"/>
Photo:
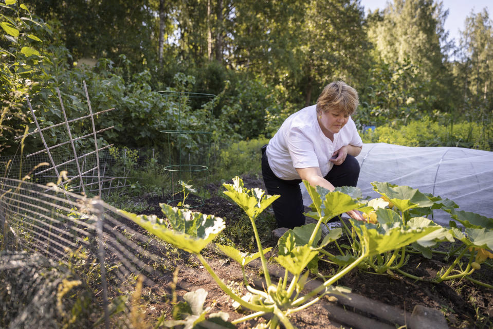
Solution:
<path fill-rule="evenodd" d="M 272 208 L 279 227 L 305 224 L 300 182 L 334 191 L 356 186 L 356 156 L 363 142 L 351 115 L 358 106 L 356 90 L 342 81 L 328 84 L 317 104 L 289 116 L 262 149 L 262 176 L 270 195 L 281 195 Z M 359 221 L 361 214 L 348 214 Z"/>

